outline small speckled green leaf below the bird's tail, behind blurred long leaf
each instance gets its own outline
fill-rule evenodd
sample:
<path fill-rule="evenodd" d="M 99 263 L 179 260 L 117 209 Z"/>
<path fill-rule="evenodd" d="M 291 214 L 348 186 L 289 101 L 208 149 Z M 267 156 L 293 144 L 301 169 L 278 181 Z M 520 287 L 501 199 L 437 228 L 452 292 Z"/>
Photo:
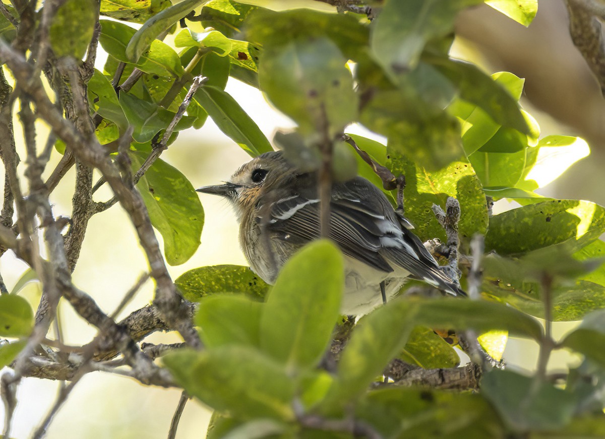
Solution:
<path fill-rule="evenodd" d="M 460 364 L 460 357 L 448 342 L 421 326 L 411 331 L 399 358 L 425 369 L 455 368 Z"/>

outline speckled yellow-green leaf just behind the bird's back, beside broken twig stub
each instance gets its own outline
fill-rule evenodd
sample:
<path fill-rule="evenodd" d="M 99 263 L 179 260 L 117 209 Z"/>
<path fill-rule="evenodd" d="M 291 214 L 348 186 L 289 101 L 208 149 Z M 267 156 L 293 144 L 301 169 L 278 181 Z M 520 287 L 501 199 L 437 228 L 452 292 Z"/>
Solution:
<path fill-rule="evenodd" d="M 420 239 L 440 238 L 445 242 L 443 227 L 431 210 L 432 204 L 444 207 L 447 197 L 455 197 L 463 212 L 458 229 L 460 236 L 471 237 L 485 233 L 488 210 L 485 195 L 473 167 L 465 161 L 456 161 L 440 171 L 430 172 L 399 154 L 391 155 L 391 172 L 404 174 L 406 186 L 405 216 L 416 226 L 414 233 Z"/>

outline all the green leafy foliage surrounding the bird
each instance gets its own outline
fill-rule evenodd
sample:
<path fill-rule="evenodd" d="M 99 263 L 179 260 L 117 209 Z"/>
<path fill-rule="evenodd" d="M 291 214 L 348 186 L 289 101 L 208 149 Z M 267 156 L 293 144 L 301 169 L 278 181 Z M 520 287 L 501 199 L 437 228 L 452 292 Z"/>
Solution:
<path fill-rule="evenodd" d="M 386 141 L 351 135 L 359 148 L 393 174 L 405 175 L 405 215 L 420 239 L 446 240 L 431 204 L 445 206 L 448 197 L 457 198 L 462 210 L 462 252 L 468 253 L 474 235 L 485 235 L 490 254 L 483 261 L 481 298 L 407 298 L 404 287 L 401 297 L 359 320 L 345 337 L 336 366 L 327 364 L 326 353 L 344 327 L 339 317 L 344 273 L 342 255 L 331 242 L 313 242 L 300 250 L 273 287 L 247 267 L 220 265 L 183 273 L 174 285 L 186 299 L 199 302 L 194 324 L 204 348 L 192 345 L 167 354 L 157 375 L 169 371 L 174 382 L 162 385 L 176 384 L 215 411 L 208 437 L 604 434 L 605 244 L 599 237 L 605 233 L 605 210 L 589 201 L 555 200 L 534 192 L 587 155 L 587 145 L 563 135 L 540 138 L 537 123 L 518 103 L 523 79 L 507 72 L 490 76 L 449 56 L 457 13 L 482 2 L 387 0 L 374 5 L 373 20 L 357 13 L 353 6 L 358 2 L 342 2 L 348 7 L 336 13 L 274 11 L 234 0 L 101 0 L 100 6 L 70 0 L 54 11 L 48 50 L 57 71 L 60 63 L 80 63 L 87 50 L 90 54 L 99 25 L 98 44 L 108 59 L 102 70 L 93 68 L 83 80 L 93 144 L 105 148 L 108 161 L 130 186 L 132 174 L 145 171 L 133 189 L 140 193 L 143 214 L 124 198 L 120 201 L 137 230 L 148 221 L 162 235 L 160 265 L 164 259 L 180 265 L 191 258 L 200 245 L 204 212 L 188 177 L 157 155 L 178 132 L 200 128 L 208 117 L 252 157 L 279 145 L 295 163 L 314 169 L 320 149 L 328 145 L 335 151 L 336 179 L 355 174 L 357 167 L 394 204 L 396 194 L 384 189 L 342 141 L 348 126 L 361 123 Z M 485 3 L 522 25 L 529 25 L 537 11 L 537 0 Z M 24 19 L 13 7 L 4 8 Z M 83 11 L 76 14 L 77 21 L 76 9 Z M 197 22 L 203 31 L 188 28 Z M 173 45 L 162 41 L 168 33 L 175 34 Z M 0 16 L 2 44 L 19 43 L 18 34 L 7 16 Z M 4 67 L 16 70 L 10 62 Z M 208 81 L 191 89 L 183 110 L 181 103 L 197 76 Z M 297 128 L 269 141 L 225 91 L 229 78 L 260 89 Z M 20 99 L 29 107 L 30 97 Z M 42 113 L 41 105 L 36 108 Z M 65 106 L 65 117 L 69 115 Z M 59 137 L 56 150 L 66 157 L 75 152 L 65 132 L 53 129 Z M 149 157 L 154 159 L 145 167 Z M 111 183 L 115 175 L 103 163 L 93 164 Z M 116 197 L 123 197 L 113 184 Z M 491 215 L 491 201 L 500 199 L 521 207 Z M 157 274 L 161 267 L 149 256 L 154 247 L 139 236 L 160 291 L 166 276 Z M 8 247 L 2 241 L 2 251 Z M 38 275 L 43 284 L 48 282 L 42 275 L 52 261 L 34 263 L 31 256 L 18 255 L 36 272 L 42 270 Z M 471 282 L 467 272 L 462 285 Z M 28 272 L 19 284 L 35 275 Z M 169 285 L 174 288 L 171 281 Z M 0 336 L 11 340 L 0 345 L 0 366 L 27 353 L 34 315 L 18 295 L 20 288 L 0 295 Z M 74 297 L 70 303 L 77 308 L 84 299 Z M 169 302 L 158 292 L 154 304 Z M 174 311 L 162 308 L 165 317 L 172 315 L 167 310 Z M 91 315 L 80 314 L 85 319 Z M 535 317 L 583 322 L 555 342 L 549 325 L 543 328 Z M 105 328 L 93 320 L 88 321 Z M 172 329 L 185 337 L 180 320 L 172 321 Z M 153 330 L 160 328 L 166 329 Z M 472 394 L 376 384 L 394 358 L 424 369 L 456 368 L 457 351 L 434 333 L 439 328 L 484 334 L 485 346 L 491 340 L 485 334 L 494 330 L 500 332 L 492 337 L 500 341 L 503 334 L 533 340 L 540 347 L 540 364 L 523 374 L 485 368 L 479 391 Z M 126 344 L 116 342 L 118 348 Z M 502 344 L 490 351 L 494 357 L 502 354 Z M 584 360 L 553 384 L 545 362 L 558 349 Z M 136 358 L 123 353 L 128 361 Z M 129 365 L 139 370 L 136 363 Z"/>

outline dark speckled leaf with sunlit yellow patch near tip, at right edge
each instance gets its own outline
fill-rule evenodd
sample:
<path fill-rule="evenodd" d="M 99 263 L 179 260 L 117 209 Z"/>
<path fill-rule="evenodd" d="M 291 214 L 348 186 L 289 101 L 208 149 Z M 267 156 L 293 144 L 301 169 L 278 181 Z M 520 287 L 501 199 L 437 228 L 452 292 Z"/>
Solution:
<path fill-rule="evenodd" d="M 571 240 L 578 248 L 605 232 L 605 209 L 590 201 L 552 200 L 489 219 L 485 249 L 512 255 Z"/>

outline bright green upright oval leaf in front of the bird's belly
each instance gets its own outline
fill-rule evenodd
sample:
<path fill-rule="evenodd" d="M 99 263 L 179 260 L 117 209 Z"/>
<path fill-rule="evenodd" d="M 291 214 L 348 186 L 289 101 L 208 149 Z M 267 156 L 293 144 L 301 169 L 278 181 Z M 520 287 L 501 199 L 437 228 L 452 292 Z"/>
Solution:
<path fill-rule="evenodd" d="M 261 317 L 261 348 L 287 369 L 313 366 L 330 342 L 344 288 L 341 252 L 330 241 L 305 246 L 275 281 Z"/>

